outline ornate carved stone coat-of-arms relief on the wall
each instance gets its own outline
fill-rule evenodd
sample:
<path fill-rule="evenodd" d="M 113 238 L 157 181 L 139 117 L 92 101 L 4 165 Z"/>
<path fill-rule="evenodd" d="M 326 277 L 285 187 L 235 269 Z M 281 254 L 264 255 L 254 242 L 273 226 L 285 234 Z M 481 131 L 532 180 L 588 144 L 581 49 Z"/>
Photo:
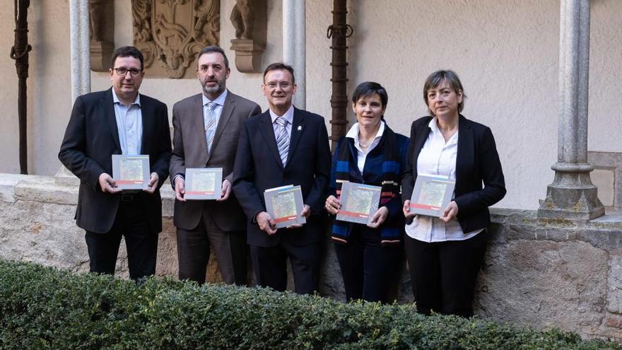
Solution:
<path fill-rule="evenodd" d="M 196 78 L 196 54 L 218 45 L 220 0 L 132 0 L 134 46 L 148 76 Z"/>

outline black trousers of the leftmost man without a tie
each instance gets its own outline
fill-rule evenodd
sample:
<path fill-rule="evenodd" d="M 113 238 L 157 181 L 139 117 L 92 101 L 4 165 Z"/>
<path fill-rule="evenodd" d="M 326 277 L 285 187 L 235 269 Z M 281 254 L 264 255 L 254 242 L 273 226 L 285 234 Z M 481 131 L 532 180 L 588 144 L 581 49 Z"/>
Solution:
<path fill-rule="evenodd" d="M 129 277 L 134 281 L 155 274 L 158 233 L 151 231 L 140 198 L 119 202 L 115 223 L 107 233 L 86 231 L 90 272 L 115 274 L 121 238 L 125 238 Z"/>

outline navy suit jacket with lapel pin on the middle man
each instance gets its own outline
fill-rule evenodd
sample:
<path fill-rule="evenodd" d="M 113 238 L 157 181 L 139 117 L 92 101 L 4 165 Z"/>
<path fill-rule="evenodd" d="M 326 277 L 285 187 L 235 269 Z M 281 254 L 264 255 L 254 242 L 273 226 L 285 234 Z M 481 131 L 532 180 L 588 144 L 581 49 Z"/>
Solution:
<path fill-rule="evenodd" d="M 248 119 L 237 145 L 233 168 L 233 190 L 247 216 L 248 243 L 273 247 L 287 239 L 293 245 L 314 243 L 324 232 L 322 213 L 330 177 L 330 148 L 324 118 L 295 108 L 288 160 L 283 168 L 278 155 L 272 120 L 268 111 Z M 303 202 L 312 215 L 302 228 L 281 228 L 274 235 L 259 229 L 254 218 L 266 210 L 264 191 L 300 185 Z"/>

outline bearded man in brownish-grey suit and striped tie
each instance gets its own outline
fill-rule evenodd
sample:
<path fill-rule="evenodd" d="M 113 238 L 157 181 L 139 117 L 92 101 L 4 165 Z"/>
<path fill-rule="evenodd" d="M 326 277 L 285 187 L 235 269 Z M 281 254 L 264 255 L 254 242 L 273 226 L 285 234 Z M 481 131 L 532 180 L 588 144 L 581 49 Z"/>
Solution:
<path fill-rule="evenodd" d="M 223 279 L 246 284 L 246 225 L 244 212 L 231 193 L 235 148 L 244 121 L 262 112 L 257 103 L 226 89 L 230 74 L 223 49 L 199 53 L 196 76 L 203 93 L 172 107 L 173 151 L 171 183 L 175 188 L 175 226 L 180 279 L 205 282 L 210 246 Z M 186 200 L 186 168 L 223 168 L 221 199 Z"/>

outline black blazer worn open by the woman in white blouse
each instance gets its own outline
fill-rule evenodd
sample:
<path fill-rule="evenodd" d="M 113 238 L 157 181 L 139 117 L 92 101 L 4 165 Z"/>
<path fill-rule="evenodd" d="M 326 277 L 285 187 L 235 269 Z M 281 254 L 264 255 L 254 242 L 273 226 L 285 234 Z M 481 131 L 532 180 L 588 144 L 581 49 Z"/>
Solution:
<path fill-rule="evenodd" d="M 402 202 L 411 199 L 417 180 L 417 158 L 430 134 L 432 117 L 415 120 L 411 126 L 408 163 L 401 181 Z M 484 187 L 482 187 L 482 182 Z M 458 153 L 454 201 L 464 233 L 486 228 L 491 222 L 488 206 L 505 196 L 505 180 L 495 138 L 489 127 L 464 116 L 458 121 Z"/>

